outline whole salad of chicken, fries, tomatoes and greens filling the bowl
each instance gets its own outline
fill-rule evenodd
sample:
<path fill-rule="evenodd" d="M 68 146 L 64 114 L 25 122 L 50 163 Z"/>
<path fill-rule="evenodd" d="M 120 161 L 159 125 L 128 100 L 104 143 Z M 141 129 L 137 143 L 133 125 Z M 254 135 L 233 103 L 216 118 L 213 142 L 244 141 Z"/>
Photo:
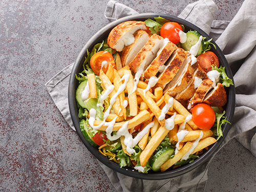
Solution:
<path fill-rule="evenodd" d="M 200 158 L 229 123 L 222 106 L 232 81 L 210 41 L 161 17 L 116 26 L 76 75 L 83 136 L 144 174 Z"/>

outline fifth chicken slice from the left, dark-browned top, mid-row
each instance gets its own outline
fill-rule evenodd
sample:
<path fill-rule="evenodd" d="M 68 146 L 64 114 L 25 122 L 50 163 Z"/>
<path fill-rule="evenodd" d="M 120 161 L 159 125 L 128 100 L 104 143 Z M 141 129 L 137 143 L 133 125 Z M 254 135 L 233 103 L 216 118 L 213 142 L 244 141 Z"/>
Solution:
<path fill-rule="evenodd" d="M 163 71 L 158 75 L 157 85 L 158 87 L 164 87 L 165 84 L 173 80 L 175 75 L 178 73 L 179 69 L 182 67 L 184 59 L 187 57 L 187 52 L 183 49 L 177 49 L 174 51 L 172 56 L 164 64 Z M 185 66 L 183 65 L 183 68 Z"/>

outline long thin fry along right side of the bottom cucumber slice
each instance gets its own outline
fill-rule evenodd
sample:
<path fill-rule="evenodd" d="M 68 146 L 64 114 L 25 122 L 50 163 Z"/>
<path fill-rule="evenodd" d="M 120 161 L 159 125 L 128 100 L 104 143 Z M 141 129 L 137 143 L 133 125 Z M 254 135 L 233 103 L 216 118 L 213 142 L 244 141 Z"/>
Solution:
<path fill-rule="evenodd" d="M 176 162 L 178 162 L 189 150 L 189 148 L 193 145 L 191 142 L 187 142 L 181 150 L 175 154 L 173 159 L 167 160 L 164 164 L 161 165 L 161 172 L 164 172 L 171 166 L 173 166 Z M 142 153 L 141 153 L 142 154 Z"/>

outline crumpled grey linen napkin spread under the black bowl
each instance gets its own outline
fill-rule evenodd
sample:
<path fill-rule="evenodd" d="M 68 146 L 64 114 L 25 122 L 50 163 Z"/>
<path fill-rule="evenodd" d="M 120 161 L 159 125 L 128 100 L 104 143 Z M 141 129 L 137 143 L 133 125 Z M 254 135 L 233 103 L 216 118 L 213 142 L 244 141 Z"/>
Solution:
<path fill-rule="evenodd" d="M 236 138 L 254 156 L 256 156 L 256 122 L 253 121 L 256 117 L 255 9 L 254 0 L 245 0 L 231 22 L 222 22 L 214 20 L 217 10 L 215 3 L 211 0 L 202 0 L 189 4 L 179 15 L 180 18 L 197 25 L 214 38 L 223 50 L 234 74 L 237 93 L 236 109 L 232 128 L 220 149 L 230 139 Z M 137 14 L 137 12 L 112 0 L 105 10 L 105 17 L 111 22 L 131 14 Z M 63 117 L 75 130 L 69 114 L 67 99 L 72 67 L 73 63 L 48 81 L 46 87 Z M 99 163 L 117 191 L 204 191 L 207 182 L 207 168 L 211 159 L 183 176 L 156 181 L 127 177 Z"/>

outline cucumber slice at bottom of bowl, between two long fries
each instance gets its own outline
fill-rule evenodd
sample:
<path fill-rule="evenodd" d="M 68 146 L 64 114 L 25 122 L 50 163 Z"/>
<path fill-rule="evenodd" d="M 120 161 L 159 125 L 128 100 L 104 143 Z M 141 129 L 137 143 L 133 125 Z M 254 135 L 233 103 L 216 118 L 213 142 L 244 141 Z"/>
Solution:
<path fill-rule="evenodd" d="M 174 154 L 174 148 L 166 146 L 159 150 L 151 159 L 151 166 L 154 172 L 159 172 L 161 165 L 164 164 L 170 156 Z"/>

